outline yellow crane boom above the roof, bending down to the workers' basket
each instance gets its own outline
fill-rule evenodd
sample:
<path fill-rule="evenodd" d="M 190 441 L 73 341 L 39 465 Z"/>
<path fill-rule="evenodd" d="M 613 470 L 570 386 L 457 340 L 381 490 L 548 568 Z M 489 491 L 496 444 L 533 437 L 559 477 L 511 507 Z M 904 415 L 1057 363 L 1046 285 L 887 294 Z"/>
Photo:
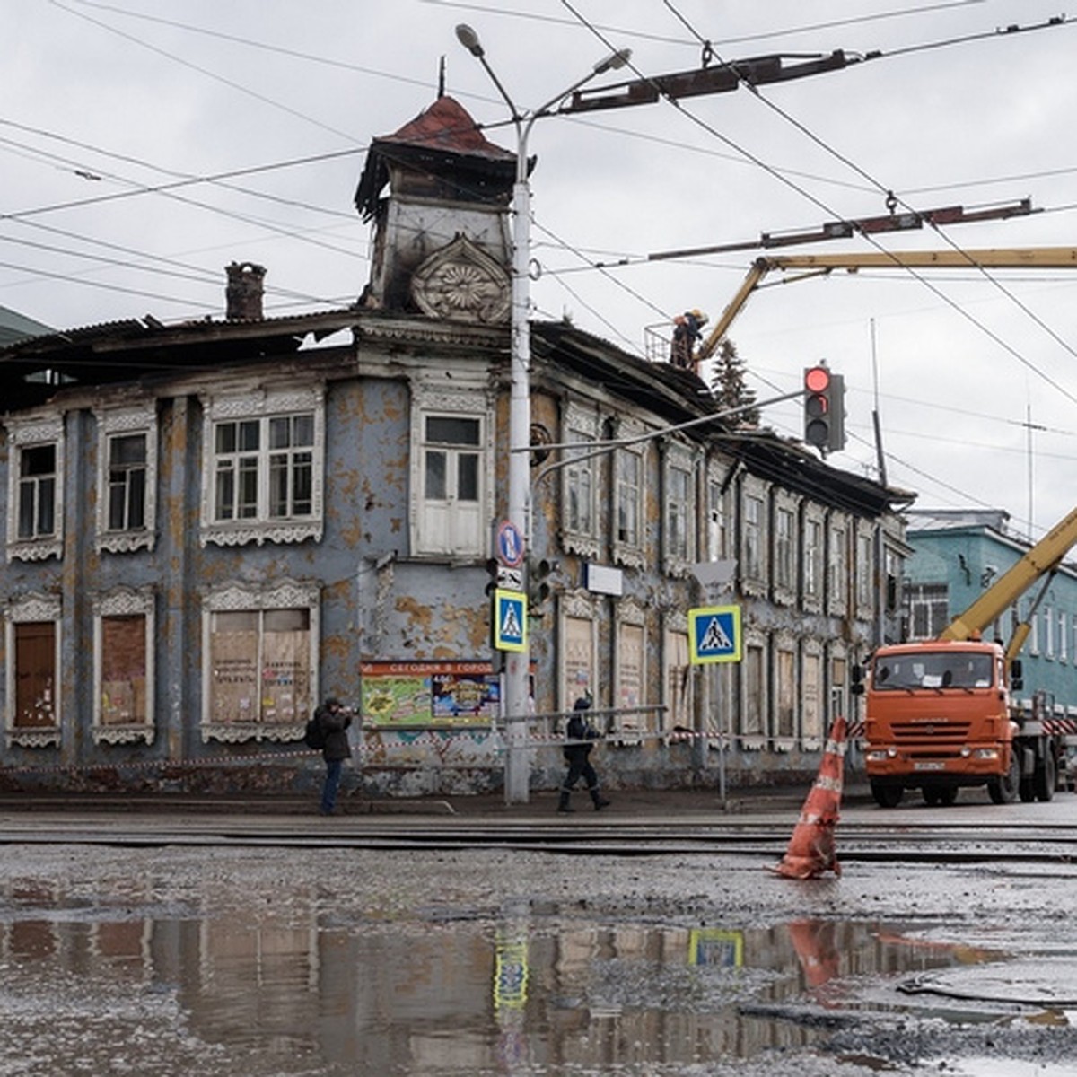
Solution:
<path fill-rule="evenodd" d="M 858 269 L 1077 269 L 1077 248 L 1015 247 L 987 250 L 946 251 L 872 251 L 864 254 L 779 254 L 759 257 L 752 263 L 741 286 L 722 317 L 714 323 L 707 339 L 696 352 L 696 363 L 710 359 L 725 339 L 729 326 L 743 310 L 752 293 L 774 269 L 800 270 L 800 276 L 825 276 L 835 269 L 856 272 Z"/>

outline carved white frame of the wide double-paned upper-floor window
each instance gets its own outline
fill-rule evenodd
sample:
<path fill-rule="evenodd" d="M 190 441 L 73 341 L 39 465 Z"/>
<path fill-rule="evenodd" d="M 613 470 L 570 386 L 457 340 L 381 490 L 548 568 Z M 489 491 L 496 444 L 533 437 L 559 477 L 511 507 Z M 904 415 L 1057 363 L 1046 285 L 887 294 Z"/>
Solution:
<path fill-rule="evenodd" d="M 247 543 L 295 543 L 307 538 L 320 541 L 324 527 L 325 482 L 325 392 L 322 386 L 290 389 L 252 389 L 202 397 L 202 503 L 201 544 L 241 546 Z M 313 420 L 311 456 L 310 512 L 297 516 L 269 515 L 270 460 L 275 450 L 268 431 L 272 419 L 309 414 Z M 219 520 L 216 513 L 218 463 L 216 429 L 226 422 L 256 421 L 265 436 L 260 437 L 256 456 L 256 513 L 243 519 Z"/>

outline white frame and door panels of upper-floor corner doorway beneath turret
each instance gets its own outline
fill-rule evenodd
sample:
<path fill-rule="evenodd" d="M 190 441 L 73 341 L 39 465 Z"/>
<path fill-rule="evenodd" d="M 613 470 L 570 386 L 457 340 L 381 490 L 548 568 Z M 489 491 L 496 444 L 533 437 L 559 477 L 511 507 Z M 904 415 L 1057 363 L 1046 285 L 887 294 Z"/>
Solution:
<path fill-rule="evenodd" d="M 453 496 L 428 502 L 426 420 L 451 417 L 474 419 L 479 423 L 475 446 L 459 447 L 459 452 L 478 456 L 478 501 L 474 507 L 459 504 Z M 446 392 L 418 384 L 414 388 L 411 408 L 411 551 L 417 557 L 478 558 L 489 554 L 493 524 L 493 402 L 485 386 L 471 391 Z M 434 446 L 430 446 L 432 449 Z M 452 447 L 438 443 L 437 451 L 452 452 Z M 454 493 L 454 491 L 450 491 Z M 514 521 L 522 526 L 522 521 Z"/>

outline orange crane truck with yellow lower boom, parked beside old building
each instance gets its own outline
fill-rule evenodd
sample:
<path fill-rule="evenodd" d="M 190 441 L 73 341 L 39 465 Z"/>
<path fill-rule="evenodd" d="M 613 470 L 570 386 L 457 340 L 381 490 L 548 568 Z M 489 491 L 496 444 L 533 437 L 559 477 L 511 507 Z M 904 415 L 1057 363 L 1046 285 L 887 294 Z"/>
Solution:
<path fill-rule="evenodd" d="M 1025 714 L 1018 654 L 1051 577 L 1077 542 L 1077 508 L 1057 523 L 935 640 L 885 644 L 853 670 L 865 701 L 871 795 L 895 808 L 906 789 L 951 805 L 962 786 L 987 785 L 994 803 L 1050 800 L 1065 736 L 1043 708 Z M 1007 646 L 981 633 L 1037 582 L 1029 616 Z"/>

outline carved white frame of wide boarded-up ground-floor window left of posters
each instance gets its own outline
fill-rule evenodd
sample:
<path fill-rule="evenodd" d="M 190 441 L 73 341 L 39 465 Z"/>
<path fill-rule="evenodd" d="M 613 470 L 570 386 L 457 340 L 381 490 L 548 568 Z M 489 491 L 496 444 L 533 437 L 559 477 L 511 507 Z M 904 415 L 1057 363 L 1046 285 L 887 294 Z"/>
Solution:
<path fill-rule="evenodd" d="M 296 700 L 295 713 L 285 721 L 213 722 L 212 627 L 214 613 L 266 613 L 272 610 L 307 610 L 310 633 L 308 669 L 310 684 L 306 701 Z M 260 653 L 262 643 L 260 630 Z M 229 744 L 242 741 L 294 741 L 303 737 L 307 718 L 313 713 L 319 695 L 318 655 L 321 646 L 321 587 L 316 583 L 282 579 L 274 587 L 227 584 L 206 596 L 202 603 L 202 743 L 211 740 Z M 305 702 L 306 705 L 303 705 Z"/>

